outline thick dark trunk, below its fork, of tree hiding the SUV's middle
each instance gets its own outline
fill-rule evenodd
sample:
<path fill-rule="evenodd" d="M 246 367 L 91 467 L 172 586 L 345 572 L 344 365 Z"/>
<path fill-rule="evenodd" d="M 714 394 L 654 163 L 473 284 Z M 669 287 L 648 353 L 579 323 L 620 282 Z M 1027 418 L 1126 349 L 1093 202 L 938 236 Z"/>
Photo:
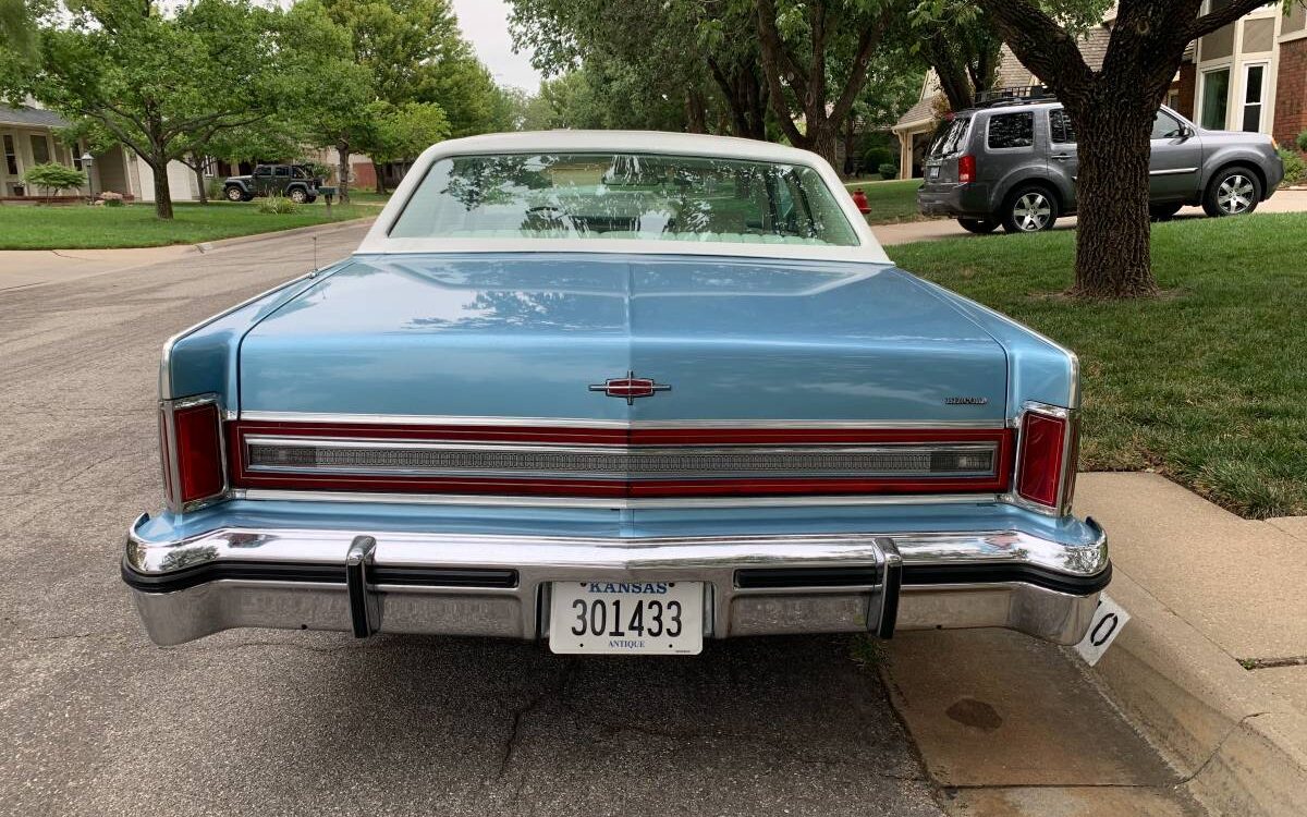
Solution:
<path fill-rule="evenodd" d="M 1153 111 L 1099 99 L 1077 111 L 1078 298 L 1157 294 L 1150 265 L 1149 137 Z M 1074 116 L 1074 112 L 1073 112 Z"/>

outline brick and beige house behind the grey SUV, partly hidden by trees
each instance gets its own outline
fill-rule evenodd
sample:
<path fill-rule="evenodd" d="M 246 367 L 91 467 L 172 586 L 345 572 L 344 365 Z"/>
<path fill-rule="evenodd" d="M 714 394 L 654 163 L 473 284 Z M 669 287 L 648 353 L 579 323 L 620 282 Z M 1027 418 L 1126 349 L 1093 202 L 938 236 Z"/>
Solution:
<path fill-rule="evenodd" d="M 1225 0 L 1206 0 L 1204 10 Z M 1307 9 L 1294 4 L 1289 14 L 1272 3 L 1192 43 L 1167 94 L 1167 105 L 1204 128 L 1269 133 L 1291 145 L 1307 131 Z M 1081 41 L 1085 61 L 1102 67 L 1114 14 Z M 1039 85 L 1004 46 L 1000 88 Z M 894 125 L 899 137 L 899 178 L 921 175 L 929 146 L 940 85 L 928 75 L 921 98 Z"/>

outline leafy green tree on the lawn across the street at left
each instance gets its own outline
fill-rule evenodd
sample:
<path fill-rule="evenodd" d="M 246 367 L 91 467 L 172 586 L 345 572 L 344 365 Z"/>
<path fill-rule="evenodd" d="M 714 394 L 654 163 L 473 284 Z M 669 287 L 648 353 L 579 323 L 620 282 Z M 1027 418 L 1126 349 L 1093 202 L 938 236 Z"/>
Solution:
<path fill-rule="evenodd" d="M 187 135 L 267 116 L 277 12 L 248 0 L 193 0 L 167 16 L 137 0 L 85 0 L 46 21 L 30 92 L 127 145 L 154 175 L 154 210 L 173 217 L 167 163 Z"/>

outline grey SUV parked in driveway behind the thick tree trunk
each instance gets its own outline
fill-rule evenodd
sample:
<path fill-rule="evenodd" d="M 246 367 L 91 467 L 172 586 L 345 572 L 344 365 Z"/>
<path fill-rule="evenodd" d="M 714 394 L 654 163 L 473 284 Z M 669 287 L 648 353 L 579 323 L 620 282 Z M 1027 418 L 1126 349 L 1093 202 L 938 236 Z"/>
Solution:
<path fill-rule="evenodd" d="M 951 216 L 972 233 L 1002 225 L 1035 233 L 1076 212 L 1076 129 L 1055 101 L 999 102 L 940 124 L 916 195 L 927 216 Z M 1209 216 L 1251 213 L 1285 175 L 1264 133 L 1206 131 L 1168 107 L 1153 124 L 1154 218 L 1187 204 Z"/>

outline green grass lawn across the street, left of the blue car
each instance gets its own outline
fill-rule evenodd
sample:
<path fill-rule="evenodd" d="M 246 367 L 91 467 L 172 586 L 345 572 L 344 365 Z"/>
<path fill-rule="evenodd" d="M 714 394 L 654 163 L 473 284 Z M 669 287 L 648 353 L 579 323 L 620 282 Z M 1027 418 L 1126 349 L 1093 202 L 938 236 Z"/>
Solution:
<path fill-rule="evenodd" d="M 105 247 L 159 247 L 193 244 L 235 235 L 289 230 L 348 218 L 376 216 L 376 207 L 331 208 L 319 200 L 298 213 L 260 213 L 257 201 L 174 204 L 175 218 L 159 221 L 153 204 L 128 207 L 0 205 L 0 250 L 90 250 Z"/>

